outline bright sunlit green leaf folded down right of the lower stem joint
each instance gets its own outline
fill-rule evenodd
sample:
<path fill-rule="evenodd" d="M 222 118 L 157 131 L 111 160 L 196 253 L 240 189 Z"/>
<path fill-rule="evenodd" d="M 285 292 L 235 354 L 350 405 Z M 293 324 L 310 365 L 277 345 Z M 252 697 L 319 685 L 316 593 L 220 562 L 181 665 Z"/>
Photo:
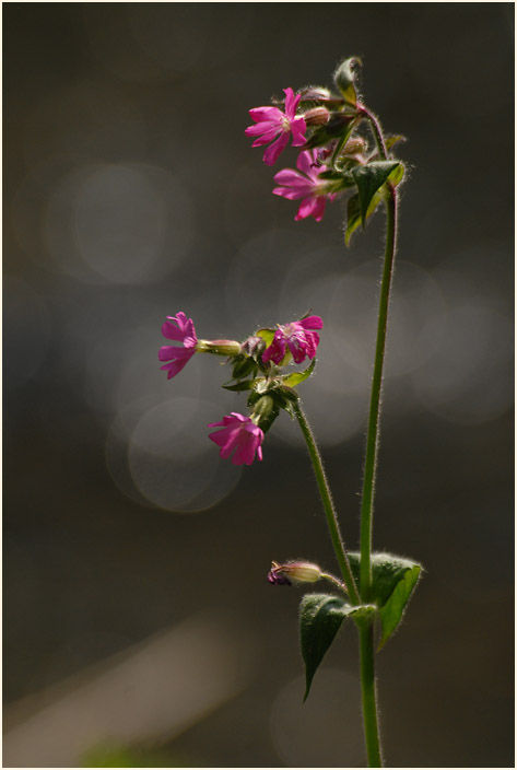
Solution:
<path fill-rule="evenodd" d="M 349 553 L 350 567 L 360 580 L 360 553 Z M 380 650 L 402 620 L 409 598 L 422 572 L 421 564 L 391 553 L 372 555 L 372 600 L 379 609 Z"/>

